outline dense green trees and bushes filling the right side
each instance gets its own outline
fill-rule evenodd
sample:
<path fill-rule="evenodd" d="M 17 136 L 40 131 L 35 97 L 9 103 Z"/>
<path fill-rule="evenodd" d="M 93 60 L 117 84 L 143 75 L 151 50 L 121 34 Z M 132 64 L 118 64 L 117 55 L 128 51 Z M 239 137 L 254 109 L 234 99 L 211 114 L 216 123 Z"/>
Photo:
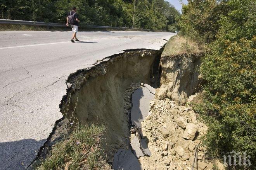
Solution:
<path fill-rule="evenodd" d="M 208 43 L 211 51 L 200 70 L 206 80 L 204 102 L 195 105 L 209 125 L 204 140 L 209 155 L 247 151 L 251 169 L 256 155 L 255 28 L 255 0 L 189 0 L 180 21 L 185 37 Z"/>

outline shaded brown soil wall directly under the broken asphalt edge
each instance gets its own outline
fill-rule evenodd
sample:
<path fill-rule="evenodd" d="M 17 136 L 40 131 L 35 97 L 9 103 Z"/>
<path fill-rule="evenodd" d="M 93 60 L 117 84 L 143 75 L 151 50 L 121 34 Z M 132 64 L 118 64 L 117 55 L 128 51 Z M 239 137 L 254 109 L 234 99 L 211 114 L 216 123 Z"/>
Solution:
<path fill-rule="evenodd" d="M 129 108 L 125 106 L 131 107 L 125 105 L 125 90 L 131 83 L 157 83 L 158 64 L 153 63 L 159 61 L 160 56 L 161 51 L 130 50 L 98 61 L 87 70 L 78 70 L 67 80 L 71 87 L 61 108 L 68 104 L 71 95 L 68 117 L 72 114 L 71 108 L 76 107 L 73 116 L 79 121 L 106 125 L 105 137 L 110 150 L 125 145 L 129 133 L 126 111 Z"/>

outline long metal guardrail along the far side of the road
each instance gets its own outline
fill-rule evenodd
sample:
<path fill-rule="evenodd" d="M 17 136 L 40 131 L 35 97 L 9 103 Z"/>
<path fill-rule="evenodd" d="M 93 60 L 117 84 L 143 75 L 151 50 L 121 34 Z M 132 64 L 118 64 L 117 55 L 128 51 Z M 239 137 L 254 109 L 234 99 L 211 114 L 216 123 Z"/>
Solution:
<path fill-rule="evenodd" d="M 32 25 L 32 26 L 47 26 L 47 27 L 67 27 L 66 24 L 59 24 L 53 22 L 38 22 L 38 21 L 27 21 L 27 20 L 12 20 L 12 19 L 0 19 L 0 24 L 16 24 L 16 25 Z M 111 26 L 79 26 L 81 28 L 104 28 L 104 29 L 130 29 L 130 30 L 139 30 L 139 31 L 161 31 L 168 32 L 163 30 L 150 30 L 150 29 L 139 29 L 139 28 L 127 28 L 127 27 L 111 27 Z"/>

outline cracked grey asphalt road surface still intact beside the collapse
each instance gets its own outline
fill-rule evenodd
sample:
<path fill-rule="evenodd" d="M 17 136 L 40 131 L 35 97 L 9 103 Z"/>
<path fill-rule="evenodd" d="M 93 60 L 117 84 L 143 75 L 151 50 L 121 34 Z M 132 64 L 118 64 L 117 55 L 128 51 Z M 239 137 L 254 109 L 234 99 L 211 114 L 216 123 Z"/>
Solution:
<path fill-rule="evenodd" d="M 173 33 L 0 32 L 0 169 L 25 169 L 62 117 L 70 73 L 125 49 L 160 49 Z"/>

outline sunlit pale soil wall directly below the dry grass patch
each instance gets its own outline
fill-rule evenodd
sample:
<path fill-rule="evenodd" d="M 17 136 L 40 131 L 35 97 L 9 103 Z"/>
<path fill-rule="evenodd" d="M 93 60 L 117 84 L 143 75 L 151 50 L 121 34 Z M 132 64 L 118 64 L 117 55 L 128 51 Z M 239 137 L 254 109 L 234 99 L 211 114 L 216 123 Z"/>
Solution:
<path fill-rule="evenodd" d="M 161 86 L 157 89 L 156 98 L 168 97 L 178 104 L 185 104 L 197 90 L 201 56 L 203 53 L 162 56 L 159 66 Z"/>

